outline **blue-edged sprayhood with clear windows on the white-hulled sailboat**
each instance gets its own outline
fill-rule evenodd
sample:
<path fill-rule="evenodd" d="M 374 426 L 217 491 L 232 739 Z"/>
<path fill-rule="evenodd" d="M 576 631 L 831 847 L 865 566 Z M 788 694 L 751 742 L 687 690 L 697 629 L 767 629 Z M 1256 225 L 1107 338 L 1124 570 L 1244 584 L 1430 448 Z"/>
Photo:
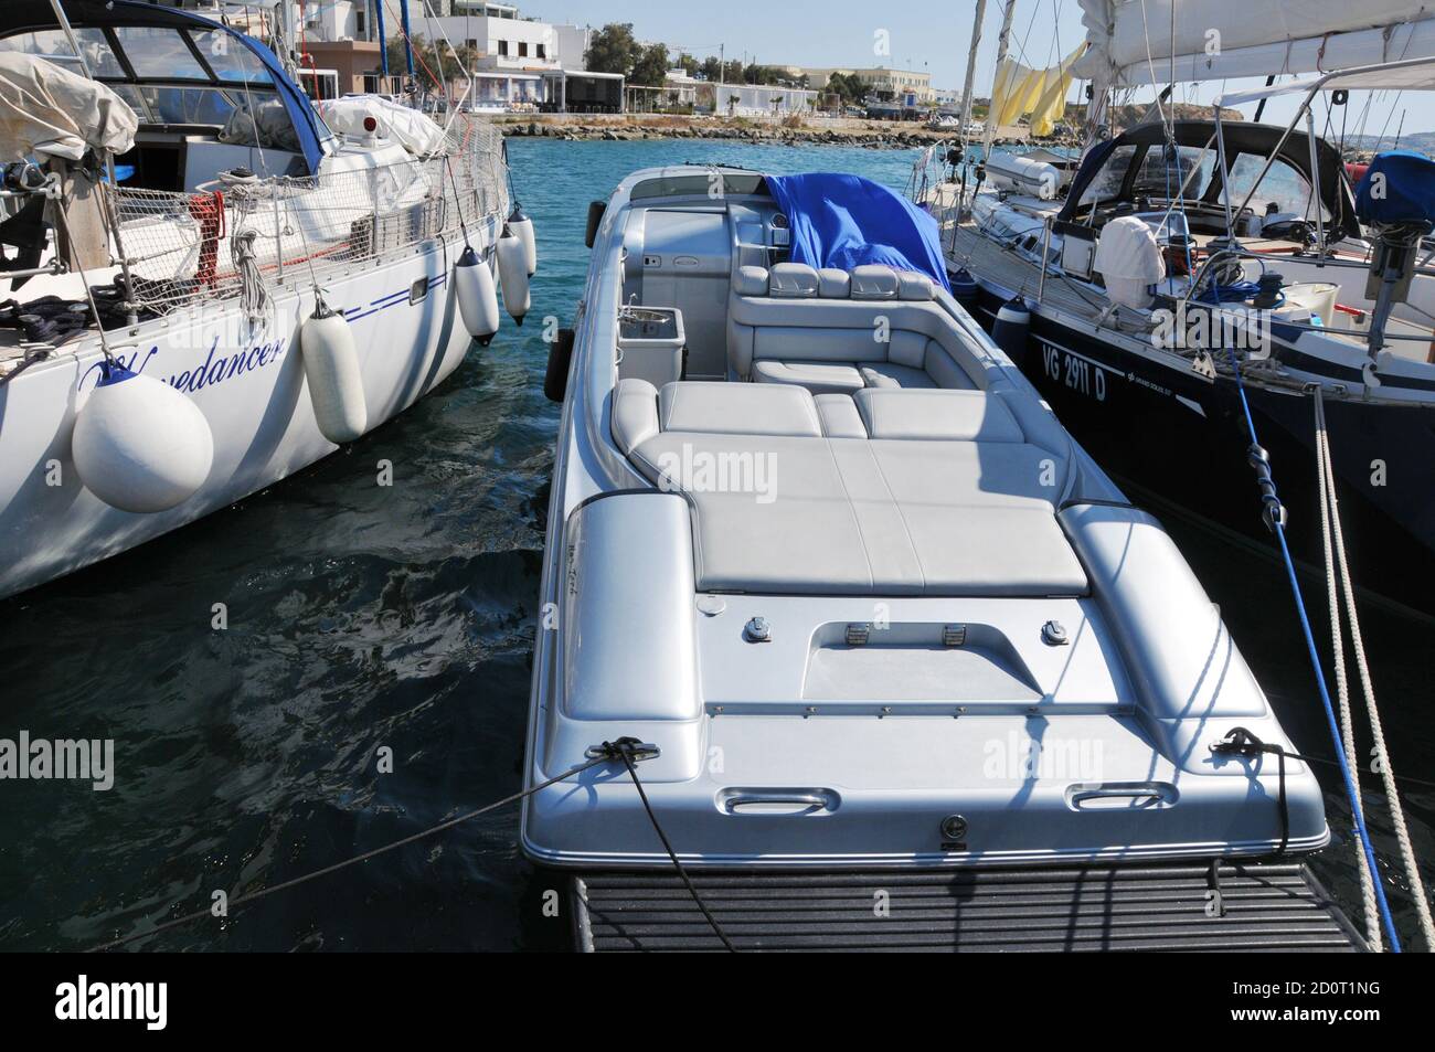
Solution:
<path fill-rule="evenodd" d="M 212 19 L 136 0 L 65 0 L 96 80 L 148 125 L 224 125 L 234 106 L 277 98 L 294 125 L 310 172 L 333 133 L 268 47 Z M 49 0 L 0 3 L 0 50 L 22 50 L 77 69 Z"/>

